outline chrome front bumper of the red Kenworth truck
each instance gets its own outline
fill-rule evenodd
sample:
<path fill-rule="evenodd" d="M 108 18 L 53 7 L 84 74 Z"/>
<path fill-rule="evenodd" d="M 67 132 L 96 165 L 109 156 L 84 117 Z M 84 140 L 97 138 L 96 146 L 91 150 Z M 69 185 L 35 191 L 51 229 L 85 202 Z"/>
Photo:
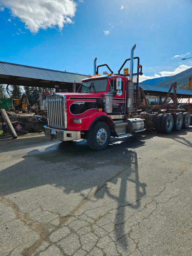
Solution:
<path fill-rule="evenodd" d="M 56 131 L 56 134 L 52 134 L 51 131 Z M 81 139 L 81 132 L 80 131 L 65 131 L 60 130 L 48 126 L 43 127 L 43 131 L 46 137 L 49 137 L 50 139 L 56 139 L 61 141 L 67 141 L 67 140 L 80 140 Z"/>

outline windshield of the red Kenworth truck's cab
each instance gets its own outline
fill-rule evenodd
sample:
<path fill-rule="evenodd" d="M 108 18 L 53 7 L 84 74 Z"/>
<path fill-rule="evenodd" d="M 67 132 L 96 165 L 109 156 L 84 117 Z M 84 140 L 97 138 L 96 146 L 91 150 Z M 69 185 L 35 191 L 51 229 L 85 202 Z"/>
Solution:
<path fill-rule="evenodd" d="M 93 79 L 83 82 L 81 92 L 105 92 L 107 79 Z"/>

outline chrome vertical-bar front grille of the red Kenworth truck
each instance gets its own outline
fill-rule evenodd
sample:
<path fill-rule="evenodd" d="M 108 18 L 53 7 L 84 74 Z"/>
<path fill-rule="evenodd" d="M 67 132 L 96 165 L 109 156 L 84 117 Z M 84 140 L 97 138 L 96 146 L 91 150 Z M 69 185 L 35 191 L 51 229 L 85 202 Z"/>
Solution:
<path fill-rule="evenodd" d="M 56 94 L 47 97 L 48 125 L 58 128 L 67 128 L 66 96 Z"/>

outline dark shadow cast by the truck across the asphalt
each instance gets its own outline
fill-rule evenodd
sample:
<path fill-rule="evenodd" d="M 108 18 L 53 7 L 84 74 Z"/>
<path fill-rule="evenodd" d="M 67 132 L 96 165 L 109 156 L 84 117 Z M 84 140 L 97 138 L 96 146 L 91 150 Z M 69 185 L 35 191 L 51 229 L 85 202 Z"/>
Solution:
<path fill-rule="evenodd" d="M 124 228 L 124 222 L 127 220 L 125 207 L 139 209 L 139 199 L 146 195 L 147 186 L 139 180 L 137 153 L 130 148 L 144 145 L 145 142 L 141 140 L 129 141 L 127 144 L 125 139 L 114 139 L 109 147 L 101 152 L 88 148 L 86 141 L 73 142 L 67 146 L 59 142 L 42 152 L 31 150 L 26 156 L 22 156 L 19 163 L 0 172 L 1 195 L 6 196 L 49 184 L 62 188 L 69 200 L 72 194 L 79 193 L 82 196 L 80 207 L 86 208 L 87 202 L 92 202 L 94 208 L 95 202 L 103 204 L 105 200 L 115 201 L 114 232 L 116 239 L 122 237 L 117 243 L 126 250 L 129 244 Z M 95 192 L 89 201 L 84 200 L 87 197 L 84 191 L 92 189 L 95 189 Z M 70 212 L 74 214 L 79 207 L 72 206 Z M 103 214 L 105 215 L 105 210 Z M 118 226 L 119 223 L 121 226 Z"/>

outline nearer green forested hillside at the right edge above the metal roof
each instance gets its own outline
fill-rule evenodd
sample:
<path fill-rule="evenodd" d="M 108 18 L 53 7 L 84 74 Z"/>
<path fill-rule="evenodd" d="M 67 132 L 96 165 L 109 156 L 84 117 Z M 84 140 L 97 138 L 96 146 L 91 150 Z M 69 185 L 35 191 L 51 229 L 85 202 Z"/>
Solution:
<path fill-rule="evenodd" d="M 182 89 L 188 83 L 189 76 L 192 76 L 192 68 L 188 68 L 177 75 L 170 76 L 169 78 L 158 82 L 155 85 L 170 87 L 173 82 L 177 82 L 177 88 Z"/>

